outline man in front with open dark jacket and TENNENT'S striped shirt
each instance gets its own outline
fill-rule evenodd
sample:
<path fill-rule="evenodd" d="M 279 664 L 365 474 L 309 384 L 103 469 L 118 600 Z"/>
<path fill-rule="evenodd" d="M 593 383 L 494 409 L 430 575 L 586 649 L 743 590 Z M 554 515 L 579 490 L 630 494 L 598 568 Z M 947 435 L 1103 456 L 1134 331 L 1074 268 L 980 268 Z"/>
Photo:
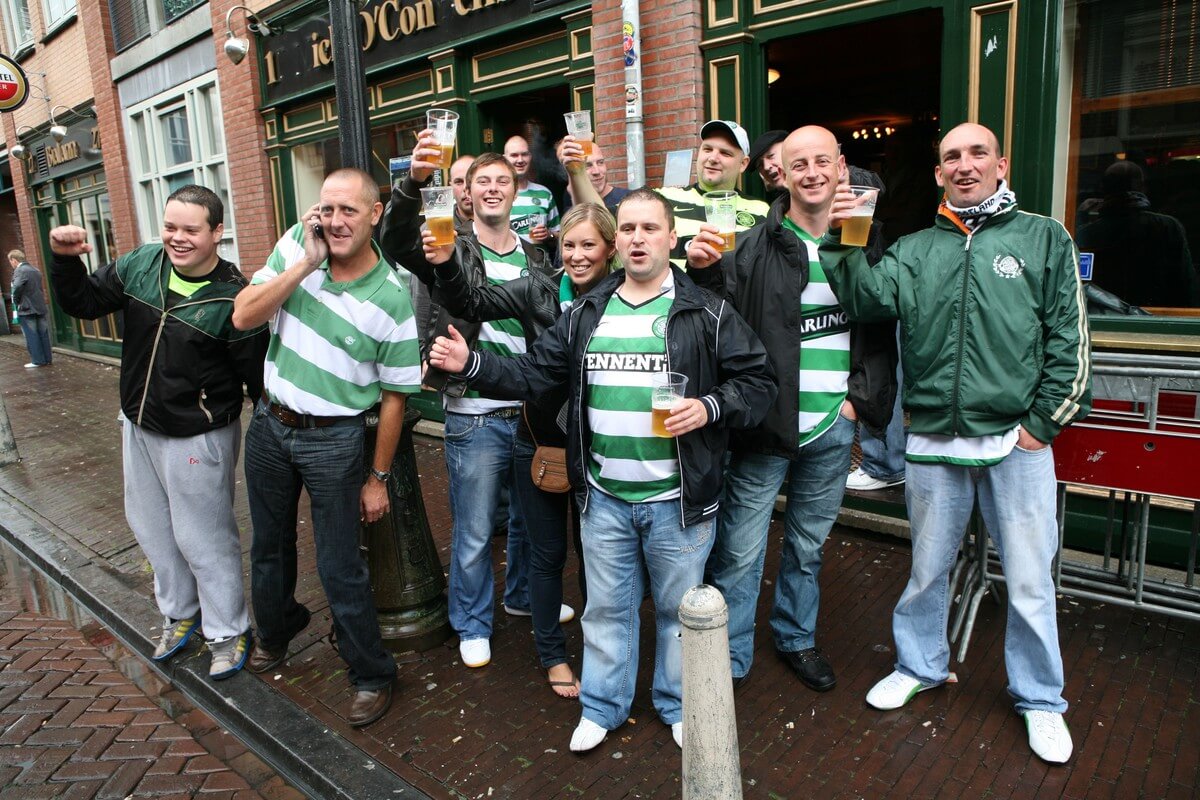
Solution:
<path fill-rule="evenodd" d="M 672 269 L 674 237 L 670 204 L 649 190 L 630 192 L 617 209 L 625 269 L 577 300 L 529 353 L 472 354 L 454 329 L 430 353 L 431 363 L 461 372 L 485 395 L 533 399 L 570 387 L 568 469 L 588 581 L 575 752 L 629 720 L 647 575 L 654 708 L 683 746 L 679 601 L 703 578 L 730 429 L 756 425 L 775 396 L 767 354 L 745 321 Z M 650 387 L 668 368 L 688 385 L 662 437 L 652 429 Z"/>

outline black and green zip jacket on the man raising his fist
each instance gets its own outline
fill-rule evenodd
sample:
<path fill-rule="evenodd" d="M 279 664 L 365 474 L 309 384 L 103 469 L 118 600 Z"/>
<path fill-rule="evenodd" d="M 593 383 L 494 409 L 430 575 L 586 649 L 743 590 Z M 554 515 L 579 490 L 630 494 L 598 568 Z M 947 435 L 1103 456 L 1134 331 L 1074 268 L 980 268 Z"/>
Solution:
<path fill-rule="evenodd" d="M 162 245 L 144 245 L 92 275 L 80 259 L 58 255 L 50 279 L 59 306 L 80 319 L 125 312 L 121 411 L 134 425 L 167 437 L 194 437 L 241 415 L 247 395 L 263 393 L 265 325 L 233 326 L 233 299 L 246 285 L 236 266 L 217 261 L 210 283 L 172 305 L 170 260 Z"/>

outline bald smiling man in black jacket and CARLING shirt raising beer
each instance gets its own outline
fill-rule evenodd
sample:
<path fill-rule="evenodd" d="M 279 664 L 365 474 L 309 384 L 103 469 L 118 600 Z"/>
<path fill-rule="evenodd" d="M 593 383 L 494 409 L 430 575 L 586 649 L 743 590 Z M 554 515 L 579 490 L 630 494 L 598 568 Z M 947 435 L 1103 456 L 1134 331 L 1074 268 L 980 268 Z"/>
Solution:
<path fill-rule="evenodd" d="M 737 306 L 779 379 L 763 422 L 731 443 L 708 573 L 730 607 L 730 657 L 740 685 L 754 657 L 767 529 L 782 487 L 787 509 L 772 633 L 800 681 L 828 691 L 836 676 L 816 646 L 821 547 L 841 507 L 854 421 L 882 431 L 890 417 L 895 327 L 850 325 L 817 260 L 834 192 L 847 178 L 833 133 L 817 126 L 793 131 L 782 163 L 787 192 L 734 252 L 721 254 L 712 225 L 701 228 L 688 251 L 689 273 Z"/>

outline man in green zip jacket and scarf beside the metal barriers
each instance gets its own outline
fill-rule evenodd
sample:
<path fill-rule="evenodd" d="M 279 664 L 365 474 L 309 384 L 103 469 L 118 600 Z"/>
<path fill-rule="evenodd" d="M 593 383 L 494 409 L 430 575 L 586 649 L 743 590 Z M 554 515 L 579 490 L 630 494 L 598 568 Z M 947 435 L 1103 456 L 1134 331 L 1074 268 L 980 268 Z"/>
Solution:
<path fill-rule="evenodd" d="M 841 243 L 856 200 L 839 192 L 821 265 L 852 319 L 901 325 L 912 573 L 893 614 L 895 669 L 866 694 L 882 710 L 949 679 L 949 571 L 976 499 L 1008 587 L 1008 692 L 1043 760 L 1070 758 L 1050 565 L 1057 553 L 1050 443 L 1091 407 L 1078 252 L 1026 213 L 995 133 L 959 125 L 938 148 L 934 227 L 874 267 Z"/>

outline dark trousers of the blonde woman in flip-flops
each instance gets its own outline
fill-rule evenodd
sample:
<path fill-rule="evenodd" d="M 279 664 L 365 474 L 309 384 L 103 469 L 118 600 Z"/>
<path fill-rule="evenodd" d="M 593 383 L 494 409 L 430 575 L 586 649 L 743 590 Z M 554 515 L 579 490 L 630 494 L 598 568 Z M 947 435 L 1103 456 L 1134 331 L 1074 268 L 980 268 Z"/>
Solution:
<path fill-rule="evenodd" d="M 558 621 L 563 604 L 563 567 L 575 504 L 571 493 L 542 492 L 533 485 L 533 441 L 518 435 L 514 455 L 514 493 L 521 495 L 529 542 L 529 610 L 533 640 L 545 669 L 566 661 L 566 636 Z M 576 521 L 577 524 L 577 521 Z"/>

